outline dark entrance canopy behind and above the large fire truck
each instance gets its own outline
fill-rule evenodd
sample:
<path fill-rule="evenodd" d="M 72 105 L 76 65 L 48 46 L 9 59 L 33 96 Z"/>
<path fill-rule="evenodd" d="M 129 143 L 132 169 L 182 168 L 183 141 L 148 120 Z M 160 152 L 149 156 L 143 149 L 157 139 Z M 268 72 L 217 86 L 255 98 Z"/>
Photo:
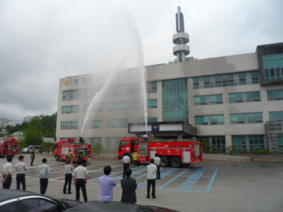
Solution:
<path fill-rule="evenodd" d="M 129 123 L 129 134 L 143 135 L 145 134 L 145 123 Z M 196 137 L 198 129 L 195 126 L 184 121 L 163 121 L 163 122 L 148 122 L 147 132 L 157 136 L 178 136 Z M 182 139 L 182 138 L 180 138 Z"/>

